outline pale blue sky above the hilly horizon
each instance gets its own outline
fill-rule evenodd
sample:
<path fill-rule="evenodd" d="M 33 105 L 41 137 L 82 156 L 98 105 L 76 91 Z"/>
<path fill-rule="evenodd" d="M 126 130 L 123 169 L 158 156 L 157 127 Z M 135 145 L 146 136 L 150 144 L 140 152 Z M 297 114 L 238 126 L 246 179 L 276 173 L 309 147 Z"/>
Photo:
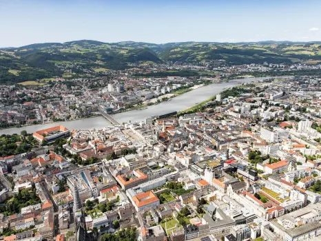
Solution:
<path fill-rule="evenodd" d="M 90 39 L 321 41 L 320 0 L 0 0 L 0 48 Z"/>

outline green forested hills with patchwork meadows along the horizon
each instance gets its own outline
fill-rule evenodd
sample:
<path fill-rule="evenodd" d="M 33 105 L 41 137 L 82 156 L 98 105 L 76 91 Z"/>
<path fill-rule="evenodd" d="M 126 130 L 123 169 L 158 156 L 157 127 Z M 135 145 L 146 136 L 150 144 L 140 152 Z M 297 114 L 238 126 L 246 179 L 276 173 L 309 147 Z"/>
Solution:
<path fill-rule="evenodd" d="M 179 61 L 224 60 L 226 65 L 250 63 L 321 63 L 321 43 L 264 41 L 258 43 L 142 43 L 81 40 L 34 43 L 0 49 L 0 83 L 72 77 L 88 71 L 124 70 L 135 65 Z M 66 72 L 68 71 L 68 72 Z"/>

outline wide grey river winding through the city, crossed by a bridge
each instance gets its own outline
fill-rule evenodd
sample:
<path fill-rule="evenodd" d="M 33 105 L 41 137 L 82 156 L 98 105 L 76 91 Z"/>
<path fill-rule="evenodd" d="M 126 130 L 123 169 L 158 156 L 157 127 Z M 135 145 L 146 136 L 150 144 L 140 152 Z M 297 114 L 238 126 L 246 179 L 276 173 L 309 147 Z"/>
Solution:
<path fill-rule="evenodd" d="M 283 76 L 283 78 L 287 78 L 289 76 Z M 205 101 L 207 98 L 214 96 L 222 90 L 234 87 L 238 83 L 245 83 L 256 81 L 260 79 L 266 79 L 271 77 L 264 77 L 264 78 L 240 78 L 234 79 L 233 81 L 229 81 L 228 83 L 214 83 L 211 85 L 205 85 L 200 87 L 196 90 L 192 90 L 185 94 L 181 94 L 175 98 L 172 98 L 170 101 L 164 101 L 159 103 L 158 105 L 152 105 L 147 107 L 147 109 L 142 110 L 132 110 L 130 112 L 122 112 L 119 114 L 114 114 L 113 117 L 119 123 L 123 122 L 134 122 L 134 121 L 143 121 L 145 118 L 149 116 L 158 116 L 161 114 L 167 114 L 169 112 L 181 111 L 184 109 L 188 109 L 196 105 L 196 103 L 200 103 Z M 276 78 L 276 77 L 274 77 Z M 1 134 L 20 134 L 22 130 L 26 130 L 28 133 L 36 132 L 39 129 L 45 129 L 48 127 L 54 127 L 56 125 L 63 125 L 68 129 L 101 129 L 103 127 L 112 125 L 109 121 L 105 120 L 105 118 L 99 116 L 94 118 L 87 118 L 77 121 L 65 121 L 61 123 L 50 123 L 45 125 L 32 125 L 28 127 L 21 127 L 21 128 L 10 128 L 10 129 L 1 129 Z"/>

